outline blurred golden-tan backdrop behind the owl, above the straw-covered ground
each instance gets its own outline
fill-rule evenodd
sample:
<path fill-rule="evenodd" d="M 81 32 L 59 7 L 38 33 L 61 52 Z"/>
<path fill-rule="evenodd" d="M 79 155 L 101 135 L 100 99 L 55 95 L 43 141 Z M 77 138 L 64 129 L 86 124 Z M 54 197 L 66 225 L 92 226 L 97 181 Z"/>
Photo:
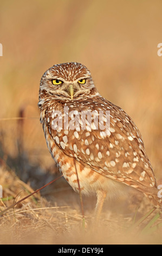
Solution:
<path fill-rule="evenodd" d="M 1 1 L 0 164 L 34 188 L 36 177 L 44 185 L 42 173 L 56 170 L 39 121 L 39 83 L 50 66 L 80 62 L 135 121 L 160 180 L 161 9 L 160 0 Z"/>

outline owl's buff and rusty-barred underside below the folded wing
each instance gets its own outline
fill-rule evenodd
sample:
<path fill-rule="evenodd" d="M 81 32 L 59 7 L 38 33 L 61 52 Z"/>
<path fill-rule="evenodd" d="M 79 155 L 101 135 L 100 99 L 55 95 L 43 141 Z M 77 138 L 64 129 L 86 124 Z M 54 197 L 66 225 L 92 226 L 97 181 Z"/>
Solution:
<path fill-rule="evenodd" d="M 96 193 L 98 190 L 108 191 L 109 197 L 119 197 L 120 194 L 127 191 L 127 186 L 115 180 L 109 179 L 102 174 L 95 172 L 90 167 L 84 166 L 74 157 L 70 157 L 62 151 L 62 149 L 54 142 L 48 132 L 46 125 L 45 136 L 51 156 L 55 160 L 57 167 L 63 174 L 63 177 L 68 181 L 74 191 L 83 194 Z"/>

